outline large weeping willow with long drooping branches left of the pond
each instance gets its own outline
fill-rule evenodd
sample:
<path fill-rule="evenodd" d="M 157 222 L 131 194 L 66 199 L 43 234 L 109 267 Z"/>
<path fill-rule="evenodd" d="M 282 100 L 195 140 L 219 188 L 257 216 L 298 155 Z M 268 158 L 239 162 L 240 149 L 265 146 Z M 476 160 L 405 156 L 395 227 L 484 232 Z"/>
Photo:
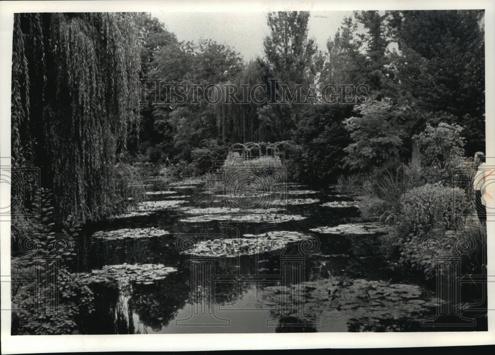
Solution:
<path fill-rule="evenodd" d="M 14 15 L 13 165 L 41 168 L 57 217 L 115 210 L 114 176 L 139 115 L 140 44 L 133 13 Z"/>

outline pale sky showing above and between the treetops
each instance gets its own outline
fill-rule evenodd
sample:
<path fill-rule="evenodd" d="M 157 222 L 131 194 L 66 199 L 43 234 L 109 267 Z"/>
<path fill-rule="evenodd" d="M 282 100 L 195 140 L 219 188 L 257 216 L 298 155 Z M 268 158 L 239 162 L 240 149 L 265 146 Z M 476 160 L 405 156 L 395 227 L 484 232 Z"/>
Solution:
<path fill-rule="evenodd" d="M 266 12 L 151 12 L 175 33 L 179 41 L 212 39 L 241 53 L 245 61 L 262 57 L 263 39 L 270 34 Z M 318 49 L 326 50 L 329 37 L 334 37 L 342 20 L 352 11 L 310 12 L 308 37 Z"/>

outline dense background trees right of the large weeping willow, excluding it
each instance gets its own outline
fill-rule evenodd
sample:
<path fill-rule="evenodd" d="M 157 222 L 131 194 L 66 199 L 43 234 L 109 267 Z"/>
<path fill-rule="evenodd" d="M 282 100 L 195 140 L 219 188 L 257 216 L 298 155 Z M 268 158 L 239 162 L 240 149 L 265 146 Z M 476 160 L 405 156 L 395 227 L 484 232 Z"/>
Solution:
<path fill-rule="evenodd" d="M 341 158 L 347 164 L 339 166 L 367 169 L 390 160 L 406 161 L 411 157 L 412 137 L 427 124 L 439 122 L 465 128 L 467 154 L 484 150 L 483 11 L 356 11 L 335 35 L 329 34 L 324 52 L 308 38 L 309 16 L 308 12 L 270 13 L 265 55 L 249 63 L 212 41 L 175 41 L 154 51 L 155 65 L 145 77 L 236 87 L 270 87 L 269 80 L 276 78 L 277 98 L 284 85 L 289 93 L 300 85 L 305 96 L 311 88 L 318 92 L 329 84 L 364 84 L 369 88 L 367 102 L 355 102 L 354 111 L 345 110 L 346 117 L 328 104 L 270 102 L 270 92 L 265 93 L 264 104 L 150 104 L 142 109 L 147 128 L 142 126 L 141 137 L 153 138 L 141 140 L 135 153 L 151 161 L 169 156 L 191 161 L 193 150 L 213 141 L 221 147 L 290 140 L 304 155 L 321 157 L 322 151 L 337 149 L 339 153 L 324 155 L 346 152 Z M 171 36 L 163 25 L 154 28 L 165 38 Z M 236 95 L 242 100 L 241 93 Z M 342 99 L 343 93 L 336 95 Z M 315 115 L 325 117 L 326 125 L 346 127 L 337 131 L 349 143 L 332 144 L 336 137 L 331 133 L 337 131 L 320 131 L 316 140 L 305 136 Z M 315 146 L 316 141 L 321 145 Z M 319 175 L 306 180 L 327 180 L 327 172 L 334 169 L 322 170 L 331 164 L 322 159 L 314 159 L 314 169 L 307 165 L 298 171 Z"/>

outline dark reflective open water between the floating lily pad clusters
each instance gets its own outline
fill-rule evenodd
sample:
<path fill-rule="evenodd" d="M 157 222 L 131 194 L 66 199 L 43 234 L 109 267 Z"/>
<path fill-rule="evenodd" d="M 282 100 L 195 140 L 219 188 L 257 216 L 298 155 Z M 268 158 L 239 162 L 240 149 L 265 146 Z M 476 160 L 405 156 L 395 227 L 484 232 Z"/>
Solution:
<path fill-rule="evenodd" d="M 170 191 L 163 187 L 160 189 Z M 317 238 L 317 248 L 313 246 L 314 250 L 305 250 L 307 253 L 301 249 L 303 239 L 290 241 L 281 249 L 255 254 L 239 249 L 236 254 L 222 257 L 181 253 L 177 248 L 178 238 L 185 235 L 196 236 L 202 242 L 218 236 L 236 240 L 253 238 L 246 235 L 268 236 L 270 231 L 307 235 L 310 228 L 322 225 L 322 221 L 326 226 L 356 223 L 359 221 L 356 207 L 322 205 L 331 201 L 351 201 L 351 197 L 337 192 L 295 194 L 298 200 L 319 201 L 308 200 L 307 204 L 286 206 L 284 213 L 304 216 L 303 220 L 266 226 L 254 222 L 224 225 L 218 221 L 181 222 L 185 215 L 181 208 L 206 207 L 205 195 L 201 185 L 185 189 L 171 187 L 174 189 L 177 194 L 150 194 L 148 200 L 170 200 L 177 195 L 181 200 L 187 200 L 180 208 L 153 211 L 148 216 L 114 219 L 93 226 L 78 243 L 78 258 L 73 264 L 76 272 L 124 263 L 163 264 L 177 269 L 164 279 L 152 280 L 148 284 L 132 281 L 127 284 L 92 284 L 97 310 L 84 322 L 83 333 L 355 331 L 360 329 L 354 321 L 360 313 L 352 308 L 353 304 L 344 304 L 348 306 L 345 311 L 336 306 L 335 298 L 327 295 L 328 280 L 346 276 L 379 282 L 393 277 L 385 261 L 369 253 L 378 242 L 373 236 L 321 234 Z M 219 200 L 210 206 L 221 204 Z M 120 240 L 90 237 L 97 229 L 148 227 L 161 228 L 170 234 Z M 305 248 L 309 247 L 310 243 Z M 308 283 L 313 284 L 308 286 Z M 362 283 L 366 285 L 366 282 Z M 341 289 L 341 292 L 345 291 Z M 365 307 L 361 308 L 364 311 Z M 402 322 L 405 324 L 408 320 Z"/>

